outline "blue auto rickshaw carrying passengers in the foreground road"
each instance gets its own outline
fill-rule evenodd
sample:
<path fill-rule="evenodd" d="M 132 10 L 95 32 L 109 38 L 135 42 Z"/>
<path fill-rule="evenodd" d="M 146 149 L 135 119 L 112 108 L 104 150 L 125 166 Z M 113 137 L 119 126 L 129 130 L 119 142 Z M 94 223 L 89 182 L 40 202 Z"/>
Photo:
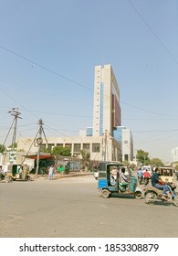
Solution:
<path fill-rule="evenodd" d="M 99 179 L 98 188 L 102 197 L 110 197 L 113 193 L 120 195 L 127 194 L 133 195 L 135 198 L 142 197 L 142 190 L 138 187 L 138 181 L 136 176 L 133 175 L 131 169 L 127 169 L 127 175 L 129 177 L 128 186 L 120 183 L 120 169 L 123 167 L 121 163 L 118 162 L 106 162 L 102 161 L 99 163 Z M 112 175 L 112 171 L 115 174 Z"/>

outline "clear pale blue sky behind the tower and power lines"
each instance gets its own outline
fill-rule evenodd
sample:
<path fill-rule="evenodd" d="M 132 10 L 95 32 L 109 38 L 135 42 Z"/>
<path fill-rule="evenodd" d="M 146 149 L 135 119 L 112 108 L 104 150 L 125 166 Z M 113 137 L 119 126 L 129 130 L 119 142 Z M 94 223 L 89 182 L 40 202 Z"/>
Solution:
<path fill-rule="evenodd" d="M 134 154 L 170 160 L 178 146 L 178 1 L 1 0 L 0 144 L 18 107 L 18 136 L 78 135 L 92 126 L 94 67 L 111 64 Z"/>

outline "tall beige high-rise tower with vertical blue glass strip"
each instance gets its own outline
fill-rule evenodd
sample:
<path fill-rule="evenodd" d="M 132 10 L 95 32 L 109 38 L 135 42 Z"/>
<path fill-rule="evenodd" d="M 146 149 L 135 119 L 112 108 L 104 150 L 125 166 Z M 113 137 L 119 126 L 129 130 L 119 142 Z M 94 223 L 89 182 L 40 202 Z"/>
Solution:
<path fill-rule="evenodd" d="M 93 101 L 93 136 L 105 131 L 113 135 L 114 127 L 121 125 L 120 89 L 110 65 L 95 67 Z"/>

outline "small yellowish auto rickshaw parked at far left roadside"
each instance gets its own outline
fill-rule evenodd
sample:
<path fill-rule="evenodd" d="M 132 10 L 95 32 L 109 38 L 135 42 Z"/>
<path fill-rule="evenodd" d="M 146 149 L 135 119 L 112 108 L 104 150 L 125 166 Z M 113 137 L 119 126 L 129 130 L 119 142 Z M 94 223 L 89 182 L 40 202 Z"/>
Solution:
<path fill-rule="evenodd" d="M 6 176 L 9 180 L 31 180 L 27 165 L 8 165 Z"/>

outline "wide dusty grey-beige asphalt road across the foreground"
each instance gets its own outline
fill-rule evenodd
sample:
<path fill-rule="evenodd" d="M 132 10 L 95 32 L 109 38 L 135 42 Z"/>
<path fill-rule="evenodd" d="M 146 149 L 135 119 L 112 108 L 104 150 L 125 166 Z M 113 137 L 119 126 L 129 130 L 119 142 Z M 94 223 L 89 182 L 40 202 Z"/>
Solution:
<path fill-rule="evenodd" d="M 178 208 L 100 197 L 93 176 L 0 183 L 1 238 L 177 238 Z"/>

